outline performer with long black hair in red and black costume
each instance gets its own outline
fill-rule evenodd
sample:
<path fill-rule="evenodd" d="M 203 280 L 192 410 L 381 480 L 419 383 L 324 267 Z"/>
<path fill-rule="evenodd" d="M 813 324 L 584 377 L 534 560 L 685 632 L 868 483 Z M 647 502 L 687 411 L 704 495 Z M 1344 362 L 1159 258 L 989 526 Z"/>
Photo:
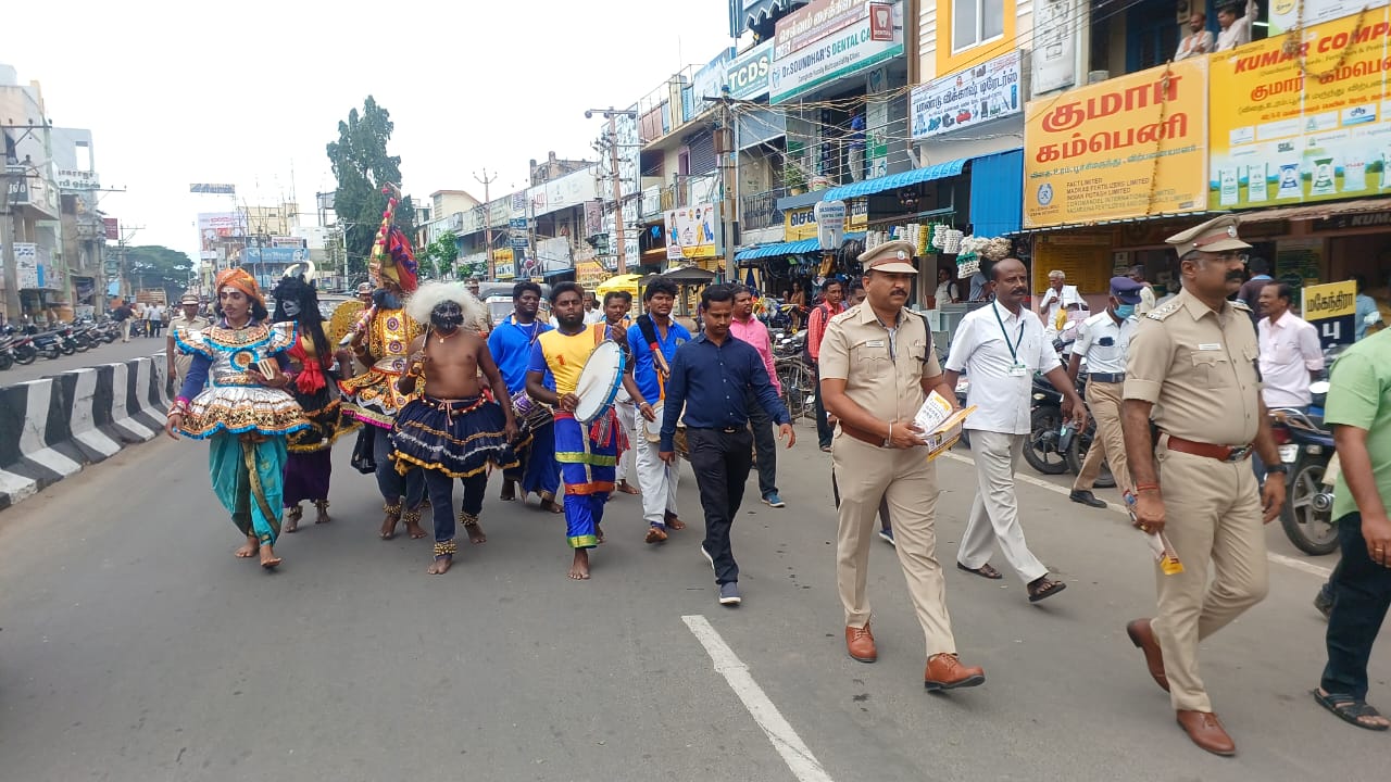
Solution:
<path fill-rule="evenodd" d="M 285 277 L 275 285 L 275 323 L 295 326 L 298 340 L 287 353 L 289 370 L 285 387 L 309 419 L 310 427 L 289 436 L 289 461 L 285 462 L 285 533 L 299 527 L 302 501 L 319 509 L 314 523 L 328 523 L 328 476 L 332 472 L 332 445 L 342 431 L 342 409 L 331 378 L 332 348 L 324 334 L 319 295 L 303 277 Z"/>

